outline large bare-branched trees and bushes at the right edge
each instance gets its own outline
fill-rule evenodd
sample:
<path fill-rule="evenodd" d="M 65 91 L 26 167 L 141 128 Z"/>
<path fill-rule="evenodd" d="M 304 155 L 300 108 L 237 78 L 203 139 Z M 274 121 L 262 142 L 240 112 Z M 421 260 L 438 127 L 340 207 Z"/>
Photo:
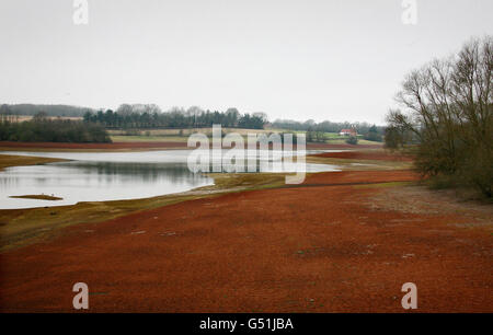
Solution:
<path fill-rule="evenodd" d="M 386 146 L 412 150 L 417 171 L 443 185 L 470 185 L 492 197 L 493 38 L 409 73 L 387 115 Z"/>

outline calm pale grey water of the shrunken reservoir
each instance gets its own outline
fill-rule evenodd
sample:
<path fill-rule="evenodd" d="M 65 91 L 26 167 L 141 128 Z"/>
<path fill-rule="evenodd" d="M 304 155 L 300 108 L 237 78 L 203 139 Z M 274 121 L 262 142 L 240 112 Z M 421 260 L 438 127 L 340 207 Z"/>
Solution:
<path fill-rule="evenodd" d="M 190 190 L 214 181 L 192 173 L 190 150 L 142 152 L 1 152 L 68 159 L 68 162 L 8 168 L 0 172 L 0 209 L 73 205 L 79 201 L 137 199 Z M 311 153 L 312 151 L 307 151 Z M 325 151 L 326 152 L 326 151 Z M 267 162 L 259 162 L 265 168 Z M 260 168 L 259 168 L 260 169 Z M 267 166 L 270 171 L 275 171 Z M 295 168 L 293 168 L 293 171 Z M 288 168 L 289 170 L 289 168 Z M 308 172 L 336 166 L 307 164 Z M 58 201 L 18 199 L 19 195 L 54 195 Z"/>

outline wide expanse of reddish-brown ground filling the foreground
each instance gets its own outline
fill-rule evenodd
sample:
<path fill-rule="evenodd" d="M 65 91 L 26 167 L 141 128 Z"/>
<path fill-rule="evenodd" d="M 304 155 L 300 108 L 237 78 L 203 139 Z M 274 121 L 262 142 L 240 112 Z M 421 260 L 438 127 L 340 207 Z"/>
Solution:
<path fill-rule="evenodd" d="M 317 173 L 64 228 L 0 254 L 0 309 L 74 311 L 82 281 L 90 312 L 403 312 L 414 282 L 419 312 L 493 312 L 491 206 L 416 180 Z"/>

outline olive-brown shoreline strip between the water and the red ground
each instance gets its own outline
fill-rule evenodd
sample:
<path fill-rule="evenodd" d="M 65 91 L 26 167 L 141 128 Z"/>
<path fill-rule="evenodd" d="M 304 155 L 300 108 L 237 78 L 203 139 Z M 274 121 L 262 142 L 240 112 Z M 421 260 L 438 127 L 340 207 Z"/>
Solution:
<path fill-rule="evenodd" d="M 307 162 L 310 163 L 313 161 L 313 163 L 334 164 L 331 158 L 319 155 L 320 154 L 307 157 Z M 0 161 L 4 157 L 8 155 L 0 154 Z M 15 157 L 11 155 L 8 158 Z M 18 158 L 27 158 L 26 161 L 32 161 L 33 164 L 65 161 L 62 159 L 38 159 L 36 157 Z M 354 170 L 351 169 L 348 164 L 341 163 L 341 166 L 343 168 L 343 171 Z M 395 170 L 397 168 L 402 168 L 402 165 L 395 165 L 393 163 L 382 165 L 380 162 L 380 165 L 358 166 L 358 170 Z M 16 249 L 36 243 L 38 241 L 49 240 L 51 236 L 56 235 L 56 231 L 59 228 L 82 222 L 101 222 L 146 209 L 168 206 L 170 204 L 191 199 L 214 197 L 228 193 L 275 187 L 283 188 L 286 186 L 284 185 L 286 174 L 289 173 L 208 173 L 207 175 L 214 178 L 214 185 L 196 187 L 182 193 L 136 199 L 80 201 L 73 205 L 0 209 L 0 221 L 9 222 L 9 224 L 3 224 L 2 227 L 0 226 L 0 234 L 2 235 L 0 253 L 10 249 Z M 307 173 L 307 177 L 312 174 L 317 173 Z M 90 219 L 87 219 L 85 217 Z M 33 222 L 37 222 L 39 220 L 42 220 L 43 223 L 38 223 L 36 226 L 33 224 Z"/>

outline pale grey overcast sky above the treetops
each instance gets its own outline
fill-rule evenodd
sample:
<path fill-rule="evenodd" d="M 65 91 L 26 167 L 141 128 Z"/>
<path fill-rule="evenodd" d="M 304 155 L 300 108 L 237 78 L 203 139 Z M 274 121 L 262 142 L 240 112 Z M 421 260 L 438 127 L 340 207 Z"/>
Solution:
<path fill-rule="evenodd" d="M 0 103 L 156 103 L 383 124 L 403 76 L 493 33 L 491 0 L 0 0 Z"/>

